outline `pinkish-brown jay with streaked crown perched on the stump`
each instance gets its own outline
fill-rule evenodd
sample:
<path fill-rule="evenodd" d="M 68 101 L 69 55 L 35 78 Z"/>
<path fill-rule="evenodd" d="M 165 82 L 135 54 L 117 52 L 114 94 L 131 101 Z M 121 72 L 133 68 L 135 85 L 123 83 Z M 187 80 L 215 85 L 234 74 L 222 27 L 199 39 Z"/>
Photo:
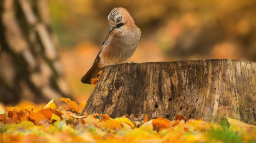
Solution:
<path fill-rule="evenodd" d="M 108 14 L 109 34 L 105 38 L 92 67 L 82 77 L 81 82 L 91 84 L 103 67 L 126 62 L 135 52 L 141 31 L 127 9 L 113 8 Z"/>

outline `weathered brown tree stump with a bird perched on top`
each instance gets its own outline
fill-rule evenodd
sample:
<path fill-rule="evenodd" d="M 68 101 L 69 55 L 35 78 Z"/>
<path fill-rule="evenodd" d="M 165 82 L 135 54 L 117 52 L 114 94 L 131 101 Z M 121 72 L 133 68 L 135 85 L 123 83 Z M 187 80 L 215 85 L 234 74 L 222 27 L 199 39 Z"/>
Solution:
<path fill-rule="evenodd" d="M 256 124 L 256 62 L 207 59 L 104 68 L 84 112 L 133 120 L 175 115 Z"/>

